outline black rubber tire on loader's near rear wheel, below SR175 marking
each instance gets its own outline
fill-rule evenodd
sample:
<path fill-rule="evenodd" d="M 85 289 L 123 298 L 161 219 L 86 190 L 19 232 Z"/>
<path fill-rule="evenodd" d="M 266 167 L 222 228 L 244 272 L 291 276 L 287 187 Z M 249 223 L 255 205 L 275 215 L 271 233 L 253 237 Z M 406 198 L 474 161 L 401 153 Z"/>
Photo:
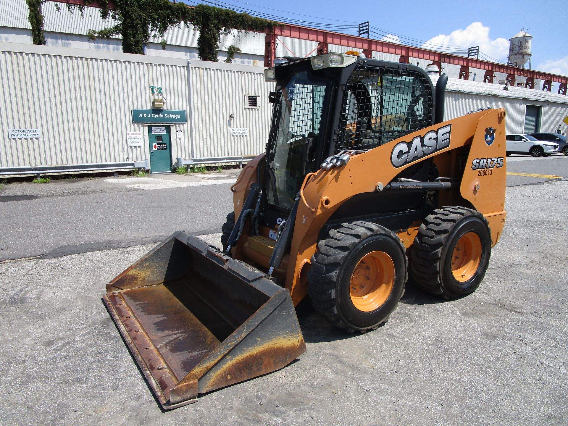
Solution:
<path fill-rule="evenodd" d="M 452 253 L 466 232 L 477 233 L 482 245 L 479 266 L 473 277 L 458 282 L 452 274 Z M 485 277 L 491 256 L 491 230 L 477 210 L 453 206 L 426 216 L 414 239 L 410 269 L 415 283 L 428 293 L 455 299 L 473 293 Z"/>

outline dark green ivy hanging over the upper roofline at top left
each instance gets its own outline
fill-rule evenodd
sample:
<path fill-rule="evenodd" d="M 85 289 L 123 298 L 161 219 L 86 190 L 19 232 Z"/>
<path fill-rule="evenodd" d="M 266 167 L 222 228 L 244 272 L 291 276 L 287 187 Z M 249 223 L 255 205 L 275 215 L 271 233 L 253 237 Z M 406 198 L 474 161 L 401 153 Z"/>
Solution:
<path fill-rule="evenodd" d="M 37 31 L 43 37 L 43 15 L 41 15 L 41 3 L 45 0 L 26 0 L 30 7 L 30 23 L 32 22 L 31 4 L 39 5 L 36 7 L 37 14 L 34 18 L 39 18 L 40 26 Z M 88 6 L 93 0 L 86 0 Z M 138 53 L 142 55 L 144 43 L 148 43 L 151 33 L 164 36 L 170 27 L 179 27 L 184 24 L 186 28 L 191 26 L 199 30 L 197 48 L 199 59 L 203 61 L 218 61 L 219 41 L 222 34 L 229 34 L 232 30 L 259 31 L 264 32 L 267 28 L 270 31 L 274 27 L 283 24 L 268 19 L 256 18 L 245 13 L 237 13 L 219 7 L 197 5 L 194 8 L 187 7 L 184 3 L 173 3 L 169 0 L 115 0 L 115 9 L 108 9 L 108 0 L 99 0 L 102 6 L 101 18 L 111 17 L 117 23 L 113 27 L 103 28 L 103 30 L 89 30 L 87 36 L 94 40 L 95 37 L 111 37 L 114 35 L 122 36 L 122 50 L 125 53 Z M 84 6 L 70 6 L 71 9 L 77 7 L 81 11 Z M 82 8 L 82 9 L 81 9 Z M 71 10 L 70 9 L 70 10 Z M 32 23 L 32 32 L 34 23 Z M 35 41 L 34 36 L 34 43 Z M 39 40 L 39 39 L 38 39 Z M 45 39 L 43 39 L 43 43 Z M 39 43 L 38 43 L 39 44 Z M 162 48 L 165 44 L 162 44 Z M 230 52 L 229 52 L 230 53 Z M 232 53 L 235 56 L 236 51 Z M 228 55 L 231 57 L 231 55 Z M 232 60 L 232 59 L 231 59 Z"/>

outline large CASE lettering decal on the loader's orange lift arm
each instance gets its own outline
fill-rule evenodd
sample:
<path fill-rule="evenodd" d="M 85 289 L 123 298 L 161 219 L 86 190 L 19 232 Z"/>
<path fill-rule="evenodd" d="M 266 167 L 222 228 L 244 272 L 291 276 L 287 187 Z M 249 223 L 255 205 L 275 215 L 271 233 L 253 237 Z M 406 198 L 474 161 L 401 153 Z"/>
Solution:
<path fill-rule="evenodd" d="M 416 136 L 412 142 L 399 142 L 394 145 L 391 153 L 391 163 L 402 167 L 420 158 L 450 146 L 450 131 L 452 124 L 431 130 L 424 136 Z"/>

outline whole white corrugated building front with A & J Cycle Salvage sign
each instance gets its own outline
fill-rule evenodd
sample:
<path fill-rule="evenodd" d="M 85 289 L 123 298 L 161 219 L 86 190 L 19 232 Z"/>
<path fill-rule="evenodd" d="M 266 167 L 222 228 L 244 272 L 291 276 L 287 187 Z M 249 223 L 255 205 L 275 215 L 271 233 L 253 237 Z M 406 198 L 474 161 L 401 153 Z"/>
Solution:
<path fill-rule="evenodd" d="M 0 75 L 2 168 L 152 162 L 167 151 L 169 171 L 178 157 L 251 156 L 266 144 L 272 84 L 260 67 L 0 43 Z M 133 109 L 162 97 L 164 114 L 185 118 L 135 122 Z"/>

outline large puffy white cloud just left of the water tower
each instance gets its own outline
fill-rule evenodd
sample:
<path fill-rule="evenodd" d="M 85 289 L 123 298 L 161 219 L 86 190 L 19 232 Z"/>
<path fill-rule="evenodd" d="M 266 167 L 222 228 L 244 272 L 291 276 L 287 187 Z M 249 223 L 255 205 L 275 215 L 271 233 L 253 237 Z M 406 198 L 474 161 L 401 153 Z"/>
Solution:
<path fill-rule="evenodd" d="M 503 37 L 492 40 L 489 36 L 489 27 L 484 27 L 481 22 L 473 22 L 465 30 L 456 30 L 450 35 L 440 34 L 432 37 L 427 43 L 460 47 L 479 46 L 480 52 L 503 61 L 507 60 L 509 53 L 509 40 Z M 423 44 L 422 47 L 435 50 L 431 44 Z"/>

